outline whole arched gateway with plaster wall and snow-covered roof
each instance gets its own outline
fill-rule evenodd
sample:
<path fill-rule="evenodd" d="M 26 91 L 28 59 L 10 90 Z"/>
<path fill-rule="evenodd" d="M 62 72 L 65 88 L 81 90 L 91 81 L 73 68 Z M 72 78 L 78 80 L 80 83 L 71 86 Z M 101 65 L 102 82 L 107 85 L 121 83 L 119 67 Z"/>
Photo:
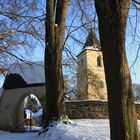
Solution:
<path fill-rule="evenodd" d="M 17 65 L 12 66 L 12 71 L 7 75 L 3 85 L 3 93 L 0 98 L 1 130 L 24 131 L 23 101 L 30 94 L 34 94 L 39 99 L 43 110 L 45 110 L 45 86 L 42 78 L 44 77 L 43 66 L 41 64 L 34 65 L 34 67 L 27 64 L 22 66 L 21 64 L 19 67 L 17 68 Z M 25 73 L 22 73 L 21 71 L 24 69 L 26 69 Z M 30 73 L 28 73 L 27 69 Z M 40 75 L 40 73 L 42 74 Z"/>

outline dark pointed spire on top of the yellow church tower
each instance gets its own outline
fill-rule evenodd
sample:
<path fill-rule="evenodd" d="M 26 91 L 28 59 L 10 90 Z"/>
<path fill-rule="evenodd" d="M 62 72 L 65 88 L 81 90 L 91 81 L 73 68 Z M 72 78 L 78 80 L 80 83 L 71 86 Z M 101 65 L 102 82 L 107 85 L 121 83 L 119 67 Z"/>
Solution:
<path fill-rule="evenodd" d="M 99 40 L 97 39 L 97 37 L 92 29 L 90 30 L 90 32 L 88 34 L 88 37 L 87 37 L 87 40 L 85 42 L 83 49 L 85 49 L 87 46 L 92 46 L 93 48 L 100 49 Z"/>

